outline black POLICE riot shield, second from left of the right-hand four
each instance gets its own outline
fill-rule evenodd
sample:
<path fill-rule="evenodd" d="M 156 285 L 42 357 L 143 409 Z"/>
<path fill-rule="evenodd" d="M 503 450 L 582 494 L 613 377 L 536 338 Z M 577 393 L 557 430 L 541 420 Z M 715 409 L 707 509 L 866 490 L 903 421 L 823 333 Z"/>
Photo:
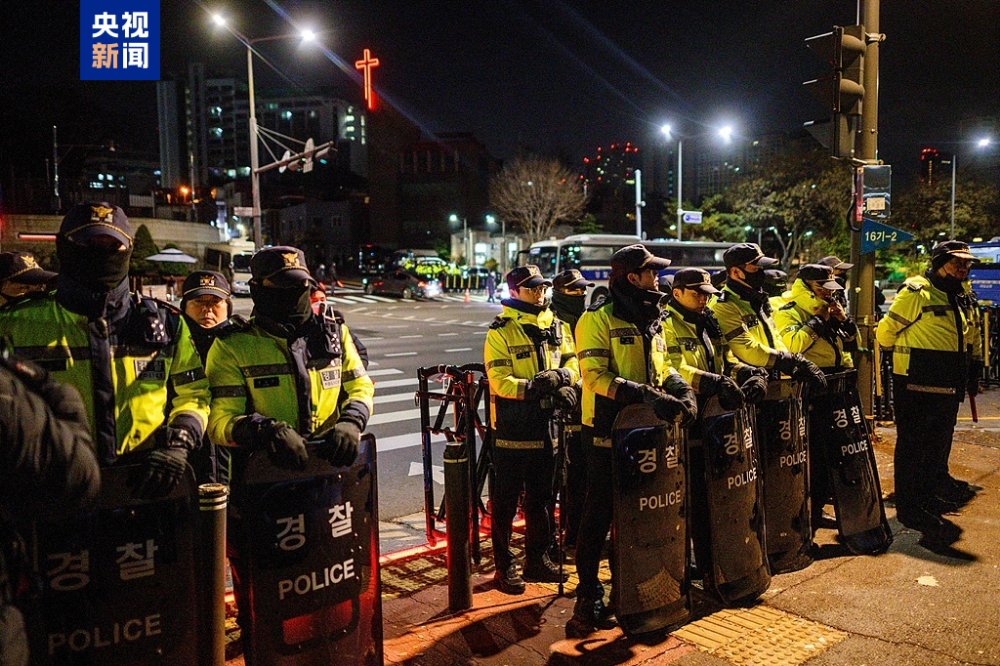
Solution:
<path fill-rule="evenodd" d="M 695 552 L 708 559 L 699 567 L 706 587 L 724 602 L 752 601 L 771 584 L 754 408 L 726 411 L 712 398 L 702 410 L 701 431 L 702 446 L 691 449 L 704 456 L 705 497 L 692 498 L 706 507 L 707 529 L 692 526 L 707 542 L 696 543 Z"/>

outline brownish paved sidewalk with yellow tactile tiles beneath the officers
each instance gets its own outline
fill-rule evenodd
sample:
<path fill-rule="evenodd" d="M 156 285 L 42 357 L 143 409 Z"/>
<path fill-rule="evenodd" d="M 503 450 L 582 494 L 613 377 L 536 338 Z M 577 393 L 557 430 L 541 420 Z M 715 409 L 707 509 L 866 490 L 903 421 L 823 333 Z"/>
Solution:
<path fill-rule="evenodd" d="M 889 502 L 895 541 L 887 553 L 853 556 L 834 530 L 820 530 L 819 559 L 802 571 L 775 576 L 755 606 L 723 609 L 695 588 L 692 622 L 649 642 L 629 640 L 618 630 L 567 640 L 575 575 L 567 596 L 558 596 L 554 585 L 534 584 L 523 596 L 506 596 L 493 589 L 488 549 L 473 579 L 473 609 L 451 614 L 445 553 L 423 554 L 383 567 L 385 661 L 1000 666 L 1000 392 L 980 396 L 979 413 L 980 423 L 973 424 L 968 403 L 963 405 L 951 471 L 981 489 L 960 513 L 948 516 L 964 529 L 948 548 L 921 545 L 919 533 L 895 520 Z M 889 496 L 895 429 L 879 427 L 878 435 L 876 457 L 883 494 Z M 411 520 L 417 524 L 403 536 L 416 539 L 422 518 Z M 397 523 L 387 527 L 403 529 Z"/>

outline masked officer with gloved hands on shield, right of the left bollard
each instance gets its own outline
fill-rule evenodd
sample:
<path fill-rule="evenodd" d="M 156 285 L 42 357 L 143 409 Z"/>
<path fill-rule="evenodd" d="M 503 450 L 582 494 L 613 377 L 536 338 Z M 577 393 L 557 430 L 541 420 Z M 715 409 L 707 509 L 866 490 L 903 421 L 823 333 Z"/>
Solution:
<path fill-rule="evenodd" d="M 305 441 L 310 438 L 332 464 L 353 463 L 375 394 L 347 326 L 313 312 L 315 281 L 301 250 L 260 250 L 250 260 L 250 273 L 254 316 L 219 335 L 207 362 L 212 383 L 209 435 L 218 446 L 234 447 L 236 505 L 243 470 L 254 451 L 265 452 L 278 467 L 299 470 L 309 459 Z M 245 544 L 238 521 L 230 525 L 238 621 L 250 636 L 252 617 L 244 612 L 249 590 L 241 561 Z M 243 644 L 246 650 L 250 642 Z M 253 663 L 252 655 L 248 663 Z"/>

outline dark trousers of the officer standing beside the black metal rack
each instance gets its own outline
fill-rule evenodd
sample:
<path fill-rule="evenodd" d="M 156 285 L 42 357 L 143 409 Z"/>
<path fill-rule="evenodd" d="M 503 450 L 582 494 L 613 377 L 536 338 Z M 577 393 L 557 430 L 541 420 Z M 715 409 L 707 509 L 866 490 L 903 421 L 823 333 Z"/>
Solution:
<path fill-rule="evenodd" d="M 493 449 L 494 483 L 490 484 L 490 503 L 493 511 L 493 559 L 497 571 L 506 571 L 514 562 L 510 552 L 510 533 L 517 500 L 524 492 L 525 562 L 539 563 L 549 547 L 552 521 L 549 505 L 552 502 L 552 476 L 555 459 L 552 448 L 544 449 Z"/>

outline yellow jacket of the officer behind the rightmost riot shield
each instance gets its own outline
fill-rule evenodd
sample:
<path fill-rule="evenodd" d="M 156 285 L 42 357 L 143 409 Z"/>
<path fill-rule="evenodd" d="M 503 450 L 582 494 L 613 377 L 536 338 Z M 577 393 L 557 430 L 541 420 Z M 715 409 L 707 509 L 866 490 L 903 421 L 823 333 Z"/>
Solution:
<path fill-rule="evenodd" d="M 810 319 L 818 317 L 826 305 L 807 284 L 796 280 L 788 302 L 774 313 L 775 328 L 788 351 L 802 354 L 824 370 L 853 368 L 851 354 L 844 351 L 844 341 L 836 331 L 828 329 L 826 322 L 818 330 L 812 326 L 816 322 Z"/>

